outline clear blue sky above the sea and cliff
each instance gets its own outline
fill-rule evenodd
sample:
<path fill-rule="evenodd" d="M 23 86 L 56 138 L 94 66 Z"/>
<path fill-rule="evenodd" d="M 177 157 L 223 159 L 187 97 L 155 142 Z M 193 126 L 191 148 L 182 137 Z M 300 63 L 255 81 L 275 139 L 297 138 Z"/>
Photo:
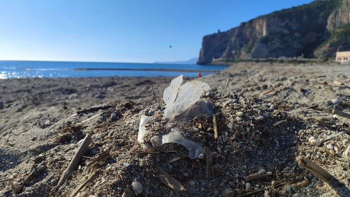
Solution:
<path fill-rule="evenodd" d="M 204 35 L 311 1 L 0 0 L 0 60 L 187 60 Z"/>

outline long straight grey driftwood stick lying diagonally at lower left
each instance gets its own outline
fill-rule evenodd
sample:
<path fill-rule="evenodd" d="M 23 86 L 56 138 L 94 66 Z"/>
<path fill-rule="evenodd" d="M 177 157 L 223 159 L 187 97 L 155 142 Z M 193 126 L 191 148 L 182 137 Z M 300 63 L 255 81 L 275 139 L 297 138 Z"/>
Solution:
<path fill-rule="evenodd" d="M 73 159 L 70 161 L 68 167 L 66 170 L 63 171 L 63 174 L 61 176 L 61 179 L 59 180 L 57 184 L 57 188 L 60 188 L 64 182 L 68 179 L 68 177 L 74 172 L 75 167 L 79 164 L 79 161 L 81 157 L 83 157 L 86 149 L 89 147 L 90 143 L 92 141 L 92 138 L 89 134 L 87 134 L 81 143 L 78 151 L 75 153 Z"/>

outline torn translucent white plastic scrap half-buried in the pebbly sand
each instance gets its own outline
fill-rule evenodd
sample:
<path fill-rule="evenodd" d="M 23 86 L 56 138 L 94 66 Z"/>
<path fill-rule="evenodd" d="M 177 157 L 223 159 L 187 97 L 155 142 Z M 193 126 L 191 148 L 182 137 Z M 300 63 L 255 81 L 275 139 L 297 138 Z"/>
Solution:
<path fill-rule="evenodd" d="M 139 126 L 138 142 L 143 149 L 152 149 L 161 147 L 165 144 L 174 143 L 174 146 L 163 149 L 163 152 L 175 152 L 178 155 L 189 157 L 191 159 L 204 158 L 204 148 L 198 143 L 185 139 L 181 135 L 178 127 L 173 126 L 176 122 L 188 121 L 197 115 L 213 114 L 213 104 L 207 99 L 201 98 L 210 90 L 208 84 L 202 81 L 189 81 L 182 84 L 182 75 L 172 80 L 171 85 L 164 90 L 164 110 L 163 120 L 167 133 L 153 133 L 146 127 L 152 117 L 142 115 Z M 146 137 L 149 136 L 149 140 Z M 185 149 L 177 149 L 181 145 Z"/>

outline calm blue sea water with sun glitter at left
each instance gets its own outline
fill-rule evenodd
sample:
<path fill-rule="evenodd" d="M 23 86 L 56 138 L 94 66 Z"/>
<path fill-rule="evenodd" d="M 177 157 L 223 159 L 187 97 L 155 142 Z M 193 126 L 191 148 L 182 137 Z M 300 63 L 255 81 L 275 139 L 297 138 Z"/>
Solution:
<path fill-rule="evenodd" d="M 0 79 L 24 77 L 102 77 L 102 76 L 202 76 L 222 70 L 227 66 L 110 63 L 110 62 L 60 62 L 60 61 L 0 61 Z M 89 70 L 93 69 L 93 70 Z M 101 70 L 99 70 L 101 69 Z M 103 70 L 105 69 L 105 70 Z M 121 70 L 118 70 L 121 69 Z M 181 69 L 181 71 L 128 70 L 128 69 Z M 191 70 L 191 72 L 183 71 Z"/>

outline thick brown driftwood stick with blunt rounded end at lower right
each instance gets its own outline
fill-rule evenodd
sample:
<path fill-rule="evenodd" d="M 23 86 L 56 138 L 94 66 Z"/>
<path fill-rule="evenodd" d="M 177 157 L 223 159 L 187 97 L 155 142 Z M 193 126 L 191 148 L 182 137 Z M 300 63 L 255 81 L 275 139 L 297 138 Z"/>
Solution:
<path fill-rule="evenodd" d="M 306 170 L 310 171 L 326 183 L 329 183 L 331 181 L 332 175 L 329 174 L 325 169 L 320 167 L 319 165 L 315 164 L 308 158 L 304 156 L 298 157 L 298 164 L 299 166 L 306 168 Z"/>

